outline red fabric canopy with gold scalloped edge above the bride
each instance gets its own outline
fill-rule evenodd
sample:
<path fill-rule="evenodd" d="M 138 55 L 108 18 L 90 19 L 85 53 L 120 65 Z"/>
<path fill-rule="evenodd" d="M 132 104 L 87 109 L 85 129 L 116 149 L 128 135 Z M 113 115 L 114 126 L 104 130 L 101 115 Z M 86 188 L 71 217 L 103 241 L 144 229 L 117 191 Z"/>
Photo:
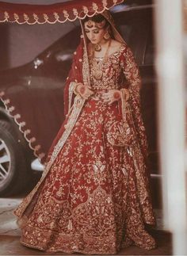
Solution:
<path fill-rule="evenodd" d="M 124 2 L 124 0 L 73 0 L 52 5 L 29 5 L 0 2 L 0 22 L 18 24 L 54 24 L 93 16 Z"/>

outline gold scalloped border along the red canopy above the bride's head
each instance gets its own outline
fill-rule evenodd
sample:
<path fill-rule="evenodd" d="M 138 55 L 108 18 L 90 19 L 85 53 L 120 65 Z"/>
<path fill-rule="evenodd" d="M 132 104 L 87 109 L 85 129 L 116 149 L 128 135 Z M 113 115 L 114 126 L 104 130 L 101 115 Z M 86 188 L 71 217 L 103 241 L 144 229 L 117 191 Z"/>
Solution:
<path fill-rule="evenodd" d="M 26 13 L 23 13 L 21 15 L 25 19 L 25 21 L 23 21 L 23 22 L 19 21 L 20 17 L 19 17 L 19 15 L 17 13 L 13 13 L 14 21 L 9 21 L 9 18 L 10 18 L 9 13 L 8 12 L 4 12 L 5 19 L 1 20 L 0 22 L 17 22 L 17 24 L 20 24 L 20 25 L 22 25 L 22 24 L 35 25 L 35 24 L 45 24 L 45 23 L 55 24 L 56 22 L 65 23 L 66 21 L 75 21 L 77 18 L 82 20 L 86 16 L 93 17 L 96 13 L 103 13 L 105 10 L 109 10 L 113 6 L 116 6 L 116 5 L 118 5 L 118 4 L 122 3 L 122 2 L 124 2 L 124 0 L 113 0 L 113 5 L 107 7 L 107 5 L 108 5 L 107 0 L 102 0 L 103 9 L 101 11 L 97 11 L 97 9 L 99 7 L 97 6 L 96 3 L 92 2 L 93 10 L 95 10 L 94 13 L 88 14 L 88 12 L 89 12 L 88 7 L 87 6 L 82 6 L 83 9 L 82 9 L 82 11 L 80 13 L 82 13 L 82 12 L 85 13 L 85 15 L 83 17 L 80 17 L 80 13 L 78 13 L 78 10 L 74 8 L 73 9 L 73 13 L 74 13 L 74 18 L 73 19 L 71 19 L 69 17 L 69 14 L 68 14 L 67 10 L 63 10 L 63 16 L 65 17 L 65 20 L 63 20 L 63 21 L 59 20 L 59 13 L 53 13 L 55 21 L 49 21 L 48 20 L 49 19 L 48 14 L 46 14 L 46 13 L 43 13 L 43 17 L 44 17 L 44 21 L 43 22 L 39 21 L 39 17 L 38 17 L 38 15 L 36 13 L 32 13 L 32 17 L 35 20 L 33 22 L 29 22 L 30 17 Z"/>

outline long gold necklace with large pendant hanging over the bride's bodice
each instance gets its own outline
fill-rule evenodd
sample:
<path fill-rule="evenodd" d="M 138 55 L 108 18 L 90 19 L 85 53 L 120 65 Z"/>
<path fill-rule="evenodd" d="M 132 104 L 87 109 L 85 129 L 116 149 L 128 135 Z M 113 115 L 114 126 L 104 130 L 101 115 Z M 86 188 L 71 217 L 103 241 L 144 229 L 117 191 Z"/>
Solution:
<path fill-rule="evenodd" d="M 111 40 L 109 40 L 109 44 L 106 48 L 106 52 L 103 58 L 99 58 L 98 60 L 96 58 L 94 58 L 94 50 L 93 50 L 93 56 L 92 56 L 92 63 L 93 63 L 93 67 L 92 67 L 92 74 L 93 77 L 96 78 L 97 80 L 101 80 L 102 78 L 102 74 L 103 74 L 103 63 L 105 63 L 105 59 L 108 56 L 109 53 L 109 47 L 111 44 Z"/>

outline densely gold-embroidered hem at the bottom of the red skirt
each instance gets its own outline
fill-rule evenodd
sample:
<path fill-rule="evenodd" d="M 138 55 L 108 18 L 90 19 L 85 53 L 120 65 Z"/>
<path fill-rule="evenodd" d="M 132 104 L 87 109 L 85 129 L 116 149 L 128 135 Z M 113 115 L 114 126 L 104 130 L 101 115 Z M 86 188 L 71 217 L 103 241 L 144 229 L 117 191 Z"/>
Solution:
<path fill-rule="evenodd" d="M 155 248 L 155 240 L 137 219 L 137 209 L 134 208 L 131 218 L 126 217 L 124 221 L 121 206 L 113 206 L 112 197 L 101 186 L 89 195 L 85 203 L 74 209 L 67 201 L 55 197 L 43 205 L 42 212 L 40 208 L 36 206 L 27 225 L 22 228 L 21 243 L 25 246 L 49 252 L 83 254 L 116 254 L 121 248 L 132 245 L 133 241 L 136 246 L 147 250 Z M 114 220 L 116 213 L 120 218 L 117 222 Z"/>

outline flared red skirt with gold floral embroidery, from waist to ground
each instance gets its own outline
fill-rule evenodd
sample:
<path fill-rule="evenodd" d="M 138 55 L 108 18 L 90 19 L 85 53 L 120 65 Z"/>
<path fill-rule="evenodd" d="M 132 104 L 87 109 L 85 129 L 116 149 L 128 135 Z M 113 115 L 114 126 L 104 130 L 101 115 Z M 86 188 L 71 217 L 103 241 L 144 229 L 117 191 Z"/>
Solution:
<path fill-rule="evenodd" d="M 117 118 L 117 104 L 86 101 L 21 230 L 25 246 L 83 254 L 116 254 L 132 241 L 150 246 L 132 153 L 106 137 Z"/>

